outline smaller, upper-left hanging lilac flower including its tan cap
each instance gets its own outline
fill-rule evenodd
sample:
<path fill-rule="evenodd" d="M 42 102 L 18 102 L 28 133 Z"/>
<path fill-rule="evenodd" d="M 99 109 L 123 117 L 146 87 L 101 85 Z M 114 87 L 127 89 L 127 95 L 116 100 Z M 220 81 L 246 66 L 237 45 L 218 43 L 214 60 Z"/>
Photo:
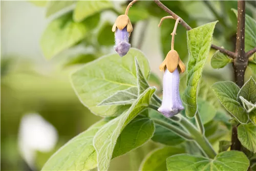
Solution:
<path fill-rule="evenodd" d="M 127 54 L 131 47 L 129 37 L 133 31 L 133 26 L 130 18 L 127 15 L 118 16 L 112 31 L 115 32 L 114 49 L 122 57 Z"/>

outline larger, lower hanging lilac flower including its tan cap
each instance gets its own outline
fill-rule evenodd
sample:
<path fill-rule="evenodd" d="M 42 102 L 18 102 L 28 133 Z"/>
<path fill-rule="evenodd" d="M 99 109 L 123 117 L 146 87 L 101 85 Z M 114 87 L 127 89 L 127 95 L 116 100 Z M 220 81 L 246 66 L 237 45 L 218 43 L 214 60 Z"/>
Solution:
<path fill-rule="evenodd" d="M 179 68 L 177 68 L 179 67 Z M 159 69 L 164 70 L 163 75 L 163 101 L 158 109 L 165 117 L 169 118 L 184 110 L 180 99 L 179 84 L 180 72 L 185 71 L 185 65 L 175 50 L 170 50 Z"/>

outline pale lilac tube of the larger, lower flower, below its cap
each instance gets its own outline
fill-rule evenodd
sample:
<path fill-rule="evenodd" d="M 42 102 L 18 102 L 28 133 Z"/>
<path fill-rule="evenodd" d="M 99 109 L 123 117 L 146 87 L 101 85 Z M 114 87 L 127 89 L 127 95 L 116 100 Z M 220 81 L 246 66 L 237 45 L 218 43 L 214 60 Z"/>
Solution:
<path fill-rule="evenodd" d="M 163 76 L 163 101 L 158 109 L 165 117 L 170 118 L 184 110 L 179 93 L 180 75 L 178 69 L 173 73 L 165 70 Z"/>

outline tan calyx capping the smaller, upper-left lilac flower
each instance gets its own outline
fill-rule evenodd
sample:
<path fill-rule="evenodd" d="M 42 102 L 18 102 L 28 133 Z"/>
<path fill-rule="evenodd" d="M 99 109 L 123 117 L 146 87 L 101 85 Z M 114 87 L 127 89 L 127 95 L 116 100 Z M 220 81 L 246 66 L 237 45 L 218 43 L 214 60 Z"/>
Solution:
<path fill-rule="evenodd" d="M 133 31 L 133 25 L 128 15 L 119 15 L 112 27 L 112 31 L 115 32 L 116 28 L 122 30 L 126 27 L 127 32 L 131 33 Z"/>

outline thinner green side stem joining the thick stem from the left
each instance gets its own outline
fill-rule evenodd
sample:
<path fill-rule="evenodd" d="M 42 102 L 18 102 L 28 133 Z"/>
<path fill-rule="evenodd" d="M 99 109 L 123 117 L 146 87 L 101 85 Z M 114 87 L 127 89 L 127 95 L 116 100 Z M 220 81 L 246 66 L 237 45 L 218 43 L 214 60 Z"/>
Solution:
<path fill-rule="evenodd" d="M 153 119 L 153 120 L 156 124 L 166 127 L 166 129 L 173 131 L 175 134 L 181 136 L 182 138 L 184 138 L 186 140 L 193 140 L 193 137 L 191 137 L 189 134 L 185 133 L 184 131 L 180 130 L 178 127 L 176 127 L 172 124 L 166 123 L 164 121 L 161 121 L 159 119 Z"/>

